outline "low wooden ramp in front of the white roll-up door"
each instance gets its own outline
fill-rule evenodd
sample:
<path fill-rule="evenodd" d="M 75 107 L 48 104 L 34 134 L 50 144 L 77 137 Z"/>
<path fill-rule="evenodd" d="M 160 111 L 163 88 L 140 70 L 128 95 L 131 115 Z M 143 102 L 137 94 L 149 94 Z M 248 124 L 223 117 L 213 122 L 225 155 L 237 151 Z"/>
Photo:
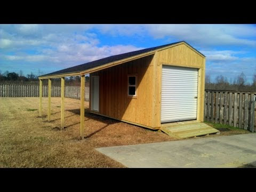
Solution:
<path fill-rule="evenodd" d="M 196 121 L 162 124 L 160 130 L 178 139 L 220 132 L 219 130 L 214 129 L 205 123 Z"/>

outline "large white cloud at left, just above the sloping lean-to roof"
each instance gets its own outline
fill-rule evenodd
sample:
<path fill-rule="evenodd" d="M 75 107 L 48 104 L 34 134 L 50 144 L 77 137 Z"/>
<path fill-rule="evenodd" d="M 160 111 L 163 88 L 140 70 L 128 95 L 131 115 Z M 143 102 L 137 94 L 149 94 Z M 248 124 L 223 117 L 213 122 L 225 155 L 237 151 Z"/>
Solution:
<path fill-rule="evenodd" d="M 131 45 L 93 46 L 91 44 L 62 44 L 57 49 L 43 49 L 37 55 L 4 55 L 6 60 L 27 62 L 43 61 L 44 63 L 61 63 L 62 68 L 109 57 L 111 55 L 143 49 Z"/>

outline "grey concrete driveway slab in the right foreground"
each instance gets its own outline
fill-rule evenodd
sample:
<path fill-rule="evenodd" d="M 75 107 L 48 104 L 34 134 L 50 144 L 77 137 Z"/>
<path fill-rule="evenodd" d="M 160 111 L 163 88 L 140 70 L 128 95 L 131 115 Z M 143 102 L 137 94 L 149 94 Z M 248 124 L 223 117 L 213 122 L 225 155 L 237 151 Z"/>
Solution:
<path fill-rule="evenodd" d="M 127 167 L 256 167 L 256 134 L 97 148 Z"/>

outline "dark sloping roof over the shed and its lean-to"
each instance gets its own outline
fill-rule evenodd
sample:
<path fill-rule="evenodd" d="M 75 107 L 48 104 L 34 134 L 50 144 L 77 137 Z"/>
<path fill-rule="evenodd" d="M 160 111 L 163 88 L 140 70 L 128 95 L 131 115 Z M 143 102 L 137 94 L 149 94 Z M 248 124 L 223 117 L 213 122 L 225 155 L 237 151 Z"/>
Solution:
<path fill-rule="evenodd" d="M 181 42 L 184 42 L 184 41 L 181 41 Z M 176 42 L 176 43 L 151 47 L 151 48 L 148 48 L 148 49 L 143 49 L 143 50 L 138 50 L 138 51 L 132 51 L 132 52 L 129 52 L 129 53 L 113 55 L 113 56 L 103 58 L 103 59 L 99 59 L 99 60 L 96 60 L 96 61 L 87 62 L 87 63 L 84 63 L 82 65 L 78 65 L 78 66 L 70 67 L 70 68 L 67 68 L 67 69 L 62 69 L 62 70 L 59 70 L 59 71 L 55 71 L 53 73 L 45 74 L 45 75 L 42 75 L 42 76 L 39 76 L 39 77 L 80 72 L 80 71 L 84 71 L 84 70 L 91 69 L 91 68 L 94 68 L 94 67 L 99 67 L 99 66 L 105 65 L 105 64 L 110 63 L 110 62 L 118 61 L 118 60 L 121 60 L 121 59 L 126 59 L 126 58 L 129 58 L 129 57 L 133 57 L 135 55 L 139 55 L 139 54 L 146 53 L 146 52 L 149 52 L 149 51 L 154 51 L 154 50 L 157 50 L 157 49 L 161 49 L 162 47 L 170 46 L 170 45 L 181 43 L 181 42 Z"/>

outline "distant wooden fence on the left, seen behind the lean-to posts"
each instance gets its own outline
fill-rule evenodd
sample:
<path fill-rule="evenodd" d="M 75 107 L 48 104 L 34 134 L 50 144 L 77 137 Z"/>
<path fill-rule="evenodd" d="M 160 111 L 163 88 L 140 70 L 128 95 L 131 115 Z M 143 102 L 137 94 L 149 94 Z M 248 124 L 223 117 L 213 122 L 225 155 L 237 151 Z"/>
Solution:
<path fill-rule="evenodd" d="M 80 99 L 80 86 L 65 86 L 65 97 Z M 39 85 L 0 85 L 0 97 L 39 97 Z M 43 97 L 48 97 L 48 85 L 43 85 Z M 61 86 L 52 86 L 52 97 L 61 97 Z M 89 87 L 84 100 L 89 101 Z"/>

